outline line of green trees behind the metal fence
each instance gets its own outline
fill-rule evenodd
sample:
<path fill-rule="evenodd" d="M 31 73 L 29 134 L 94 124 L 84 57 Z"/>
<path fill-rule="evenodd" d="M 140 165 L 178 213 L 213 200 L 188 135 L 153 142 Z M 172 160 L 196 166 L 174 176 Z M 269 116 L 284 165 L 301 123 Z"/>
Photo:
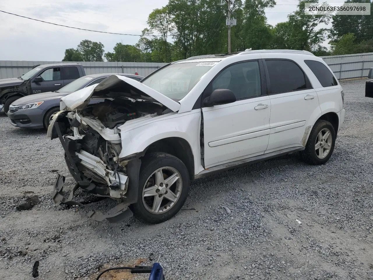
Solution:
<path fill-rule="evenodd" d="M 288 20 L 272 27 L 265 11 L 276 5 L 275 0 L 230 0 L 231 17 L 237 24 L 231 27 L 231 50 L 297 49 L 317 56 L 373 52 L 372 16 L 305 15 L 305 3 L 300 0 Z M 346 3 L 369 3 L 369 0 L 347 0 Z M 373 10 L 373 3 L 371 3 Z M 117 43 L 113 52 L 105 53 L 107 61 L 171 62 L 195 55 L 228 51 L 228 13 L 226 0 L 169 0 L 148 16 L 148 28 L 135 46 Z M 323 28 L 332 21 L 332 28 Z M 154 35 L 155 34 L 155 35 Z M 331 50 L 322 44 L 329 38 Z M 64 61 L 103 61 L 103 44 L 83 40 L 77 49 L 66 49 Z"/>

